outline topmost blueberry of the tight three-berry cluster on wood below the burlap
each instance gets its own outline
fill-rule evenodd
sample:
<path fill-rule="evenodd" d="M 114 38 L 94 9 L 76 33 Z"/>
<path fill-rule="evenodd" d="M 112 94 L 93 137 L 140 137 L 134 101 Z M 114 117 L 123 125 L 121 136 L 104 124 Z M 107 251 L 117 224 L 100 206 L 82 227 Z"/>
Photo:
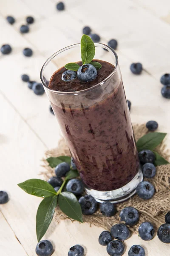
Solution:
<path fill-rule="evenodd" d="M 111 234 L 115 239 L 124 241 L 129 238 L 130 231 L 125 224 L 121 223 L 111 227 Z"/>

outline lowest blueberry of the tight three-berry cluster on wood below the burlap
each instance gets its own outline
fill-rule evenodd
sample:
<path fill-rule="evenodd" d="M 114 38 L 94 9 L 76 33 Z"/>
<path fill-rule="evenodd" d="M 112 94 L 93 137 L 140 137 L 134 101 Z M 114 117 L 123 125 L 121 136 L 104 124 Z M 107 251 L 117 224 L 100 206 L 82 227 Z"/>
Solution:
<path fill-rule="evenodd" d="M 122 256 L 125 251 L 122 241 L 111 241 L 107 245 L 107 253 L 110 256 Z"/>

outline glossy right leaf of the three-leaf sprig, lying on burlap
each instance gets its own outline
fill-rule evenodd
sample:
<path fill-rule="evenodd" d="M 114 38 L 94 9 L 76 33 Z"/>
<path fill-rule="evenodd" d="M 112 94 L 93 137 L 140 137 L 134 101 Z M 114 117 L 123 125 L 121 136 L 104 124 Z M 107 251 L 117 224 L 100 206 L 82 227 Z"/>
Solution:
<path fill-rule="evenodd" d="M 68 217 L 80 221 L 82 220 L 82 209 L 75 195 L 70 192 L 62 192 L 58 198 L 59 207 Z"/>

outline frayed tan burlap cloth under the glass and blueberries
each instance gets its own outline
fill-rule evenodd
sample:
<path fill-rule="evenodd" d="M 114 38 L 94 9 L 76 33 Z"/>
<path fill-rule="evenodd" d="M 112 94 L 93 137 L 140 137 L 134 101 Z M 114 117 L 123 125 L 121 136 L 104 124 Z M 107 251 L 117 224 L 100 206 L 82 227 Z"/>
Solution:
<path fill-rule="evenodd" d="M 145 125 L 133 125 L 134 133 L 136 140 L 142 137 L 147 133 L 147 128 Z M 161 143 L 156 148 L 156 151 L 161 154 L 166 160 L 170 159 L 170 154 L 166 150 L 166 145 Z M 59 142 L 58 148 L 48 150 L 45 153 L 45 159 L 48 157 L 57 157 L 61 155 L 70 156 L 69 149 L 65 144 L 65 140 L 62 139 Z M 43 159 L 43 166 L 45 167 L 45 180 L 54 175 L 54 169 L 48 166 L 48 162 Z M 165 214 L 170 211 L 170 164 L 158 166 L 156 176 L 149 181 L 153 183 L 156 193 L 150 200 L 143 200 L 137 195 L 134 195 L 128 201 L 117 204 L 117 213 L 113 217 L 105 217 L 99 211 L 93 215 L 83 215 L 83 221 L 88 222 L 90 225 L 95 225 L 98 227 L 103 227 L 105 230 L 110 230 L 111 227 L 119 222 L 119 213 L 120 210 L 127 206 L 133 206 L 138 209 L 140 218 L 139 223 L 133 227 L 130 227 L 130 230 L 136 232 L 143 221 L 150 221 L 155 224 L 156 227 L 159 227 L 163 224 Z M 61 220 L 65 220 L 68 217 L 60 211 L 59 208 L 56 209 L 54 213 L 54 220 L 58 223 Z"/>

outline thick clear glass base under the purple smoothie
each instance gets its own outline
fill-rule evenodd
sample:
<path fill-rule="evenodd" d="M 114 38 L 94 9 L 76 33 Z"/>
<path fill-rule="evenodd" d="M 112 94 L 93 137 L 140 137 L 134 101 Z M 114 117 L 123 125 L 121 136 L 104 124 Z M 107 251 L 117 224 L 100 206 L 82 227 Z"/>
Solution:
<path fill-rule="evenodd" d="M 85 191 L 88 195 L 93 196 L 99 203 L 110 201 L 113 204 L 117 204 L 129 199 L 132 195 L 134 195 L 136 193 L 136 187 L 142 180 L 143 175 L 141 168 L 139 168 L 139 172 L 136 174 L 136 176 L 122 188 L 112 191 L 98 191 L 85 186 Z"/>

